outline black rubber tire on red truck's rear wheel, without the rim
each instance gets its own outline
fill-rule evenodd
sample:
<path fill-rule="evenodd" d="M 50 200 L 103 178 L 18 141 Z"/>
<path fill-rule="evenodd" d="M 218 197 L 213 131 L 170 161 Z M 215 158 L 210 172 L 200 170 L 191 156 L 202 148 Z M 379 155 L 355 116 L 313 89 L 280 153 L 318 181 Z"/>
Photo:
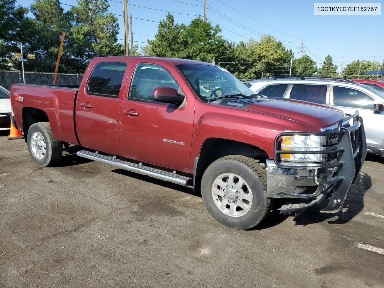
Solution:
<path fill-rule="evenodd" d="M 45 155 L 39 159 L 35 156 L 35 154 L 32 151 L 32 136 L 33 133 L 40 132 L 40 134 L 43 136 L 45 145 L 46 145 L 46 152 Z M 38 122 L 34 123 L 29 127 L 28 129 L 28 136 L 27 136 L 27 144 L 28 144 L 28 151 L 31 155 L 33 161 L 38 164 L 40 167 L 46 167 L 46 166 L 54 166 L 57 162 L 61 159 L 61 154 L 63 154 L 63 144 L 61 141 L 55 139 L 52 134 L 51 126 L 49 122 Z"/>

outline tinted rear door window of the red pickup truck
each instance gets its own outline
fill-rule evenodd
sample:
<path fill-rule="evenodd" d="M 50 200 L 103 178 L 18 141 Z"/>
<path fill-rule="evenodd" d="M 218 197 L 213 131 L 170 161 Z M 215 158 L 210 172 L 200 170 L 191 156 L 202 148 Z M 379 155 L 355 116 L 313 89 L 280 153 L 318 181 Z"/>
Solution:
<path fill-rule="evenodd" d="M 125 62 L 100 62 L 96 64 L 89 77 L 88 93 L 118 98 L 126 68 L 127 63 Z"/>

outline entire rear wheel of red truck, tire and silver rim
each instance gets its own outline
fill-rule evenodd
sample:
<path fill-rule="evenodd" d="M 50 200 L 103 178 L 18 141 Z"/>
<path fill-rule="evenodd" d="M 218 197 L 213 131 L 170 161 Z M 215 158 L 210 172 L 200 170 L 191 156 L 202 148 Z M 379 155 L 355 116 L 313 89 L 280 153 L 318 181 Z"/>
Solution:
<path fill-rule="evenodd" d="M 37 122 L 28 129 L 28 151 L 38 166 L 53 166 L 61 159 L 63 144 L 53 137 L 49 122 Z"/>

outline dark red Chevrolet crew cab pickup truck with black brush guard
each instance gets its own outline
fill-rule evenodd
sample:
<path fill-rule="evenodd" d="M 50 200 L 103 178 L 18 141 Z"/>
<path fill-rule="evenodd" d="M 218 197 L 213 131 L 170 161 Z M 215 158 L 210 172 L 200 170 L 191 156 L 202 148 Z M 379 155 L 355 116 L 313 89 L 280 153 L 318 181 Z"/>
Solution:
<path fill-rule="evenodd" d="M 39 166 L 78 145 L 80 157 L 193 186 L 215 219 L 243 230 L 275 199 L 283 214 L 326 199 L 322 213 L 340 211 L 367 151 L 357 112 L 266 98 L 192 60 L 94 58 L 79 86 L 13 84 L 10 97 Z"/>

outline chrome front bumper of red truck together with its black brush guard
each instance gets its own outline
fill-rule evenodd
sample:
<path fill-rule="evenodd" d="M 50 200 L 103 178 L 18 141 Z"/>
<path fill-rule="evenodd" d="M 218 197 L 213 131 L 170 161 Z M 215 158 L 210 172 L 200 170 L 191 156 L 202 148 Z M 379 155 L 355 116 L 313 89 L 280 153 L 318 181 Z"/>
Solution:
<path fill-rule="evenodd" d="M 345 127 L 344 123 L 352 121 Z M 320 151 L 281 151 L 278 143 L 282 136 L 317 135 L 337 136 L 335 149 Z M 293 163 L 278 160 L 280 154 L 337 154 L 332 164 Z M 328 131 L 283 132 L 275 139 L 275 159 L 267 160 L 267 197 L 287 199 L 280 213 L 298 213 L 321 203 L 326 197 L 328 206 L 321 213 L 336 213 L 343 207 L 349 186 L 356 180 L 367 154 L 367 144 L 362 118 L 355 114 L 341 119 L 338 126 Z"/>

